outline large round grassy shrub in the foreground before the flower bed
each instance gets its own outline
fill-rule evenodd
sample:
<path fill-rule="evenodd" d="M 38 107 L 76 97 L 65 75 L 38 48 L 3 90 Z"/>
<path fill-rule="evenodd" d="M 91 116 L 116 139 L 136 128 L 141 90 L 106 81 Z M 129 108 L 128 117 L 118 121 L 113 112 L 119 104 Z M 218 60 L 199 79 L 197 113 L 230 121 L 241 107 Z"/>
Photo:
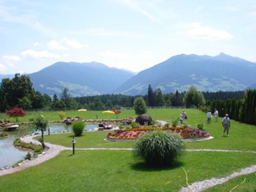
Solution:
<path fill-rule="evenodd" d="M 146 166 L 173 166 L 184 147 L 178 134 L 154 130 L 138 138 L 134 157 L 142 159 Z"/>

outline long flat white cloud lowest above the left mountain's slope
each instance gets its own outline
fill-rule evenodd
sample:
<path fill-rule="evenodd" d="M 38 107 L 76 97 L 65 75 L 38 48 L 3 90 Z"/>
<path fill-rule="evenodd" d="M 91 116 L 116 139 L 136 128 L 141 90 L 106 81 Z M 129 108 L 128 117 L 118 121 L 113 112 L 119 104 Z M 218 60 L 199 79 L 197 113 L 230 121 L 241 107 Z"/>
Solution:
<path fill-rule="evenodd" d="M 34 50 L 24 50 L 22 51 L 22 56 L 28 57 L 28 58 L 36 58 L 36 59 L 42 59 L 42 58 L 61 58 L 58 54 L 51 54 L 46 50 L 43 51 L 34 51 Z"/>

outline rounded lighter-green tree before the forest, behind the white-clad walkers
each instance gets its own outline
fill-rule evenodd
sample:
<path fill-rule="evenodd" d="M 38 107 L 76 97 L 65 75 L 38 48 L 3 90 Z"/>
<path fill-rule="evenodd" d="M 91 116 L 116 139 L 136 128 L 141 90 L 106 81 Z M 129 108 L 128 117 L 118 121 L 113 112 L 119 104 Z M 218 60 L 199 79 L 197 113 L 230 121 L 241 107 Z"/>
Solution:
<path fill-rule="evenodd" d="M 190 86 L 189 90 L 184 96 L 184 103 L 186 107 L 190 106 L 203 106 L 206 103 L 206 99 L 203 94 L 200 93 L 195 86 Z"/>

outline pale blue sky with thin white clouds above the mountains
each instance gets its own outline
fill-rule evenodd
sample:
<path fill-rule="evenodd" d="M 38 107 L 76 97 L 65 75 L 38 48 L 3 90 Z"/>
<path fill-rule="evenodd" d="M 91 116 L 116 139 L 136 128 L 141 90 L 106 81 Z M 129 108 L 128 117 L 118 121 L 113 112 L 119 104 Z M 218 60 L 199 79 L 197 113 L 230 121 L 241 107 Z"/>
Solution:
<path fill-rule="evenodd" d="M 55 62 L 139 72 L 220 53 L 256 62 L 256 1 L 0 0 L 0 74 Z"/>

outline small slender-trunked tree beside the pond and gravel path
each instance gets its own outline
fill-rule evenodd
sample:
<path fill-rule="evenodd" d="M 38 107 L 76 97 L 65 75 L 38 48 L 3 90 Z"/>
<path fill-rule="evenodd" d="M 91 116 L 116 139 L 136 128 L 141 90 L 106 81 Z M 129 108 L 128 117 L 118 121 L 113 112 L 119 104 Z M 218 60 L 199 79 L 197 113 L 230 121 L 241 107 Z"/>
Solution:
<path fill-rule="evenodd" d="M 41 131 L 41 139 L 39 142 L 42 143 L 42 148 L 44 149 L 46 146 L 43 141 L 43 133 L 47 130 L 48 120 L 42 114 L 35 113 L 33 122 L 32 122 L 32 126 L 34 127 L 35 131 L 38 131 L 38 130 Z"/>

